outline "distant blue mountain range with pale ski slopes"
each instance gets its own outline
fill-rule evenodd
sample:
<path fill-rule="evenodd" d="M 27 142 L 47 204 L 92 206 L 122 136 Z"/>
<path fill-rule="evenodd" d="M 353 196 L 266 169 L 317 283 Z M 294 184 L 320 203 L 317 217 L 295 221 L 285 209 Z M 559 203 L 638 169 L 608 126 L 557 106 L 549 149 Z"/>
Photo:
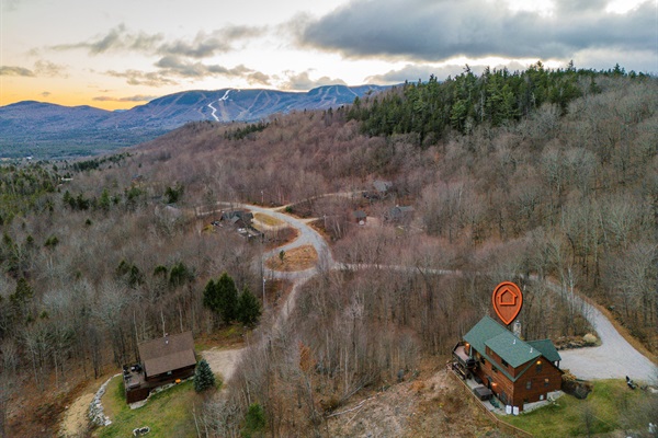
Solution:
<path fill-rule="evenodd" d="M 151 140 L 188 122 L 256 122 L 276 113 L 327 110 L 381 85 L 326 85 L 308 92 L 184 91 L 127 111 L 24 101 L 0 106 L 0 157 L 37 159 L 98 154 Z"/>

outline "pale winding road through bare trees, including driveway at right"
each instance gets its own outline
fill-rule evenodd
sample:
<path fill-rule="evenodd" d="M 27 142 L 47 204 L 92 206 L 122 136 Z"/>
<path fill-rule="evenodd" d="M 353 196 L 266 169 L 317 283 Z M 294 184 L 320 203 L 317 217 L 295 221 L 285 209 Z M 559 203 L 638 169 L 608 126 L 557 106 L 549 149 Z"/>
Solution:
<path fill-rule="evenodd" d="M 228 203 L 226 203 L 228 205 Z M 236 207 L 234 204 L 232 207 Z M 293 247 L 313 245 L 318 253 L 318 265 L 322 269 L 365 269 L 374 265 L 351 265 L 337 263 L 325 239 L 308 223 L 309 219 L 298 219 L 273 208 L 264 208 L 254 205 L 241 204 L 240 208 L 247 208 L 253 212 L 272 216 L 290 227 L 299 231 L 299 235 L 293 242 L 280 246 L 263 254 L 263 260 L 277 254 L 281 250 L 288 251 Z M 418 270 L 421 268 L 410 266 L 383 266 L 378 268 L 389 270 Z M 445 269 L 421 269 L 435 275 L 460 274 L 455 270 Z M 297 289 L 309 278 L 318 273 L 318 267 L 302 272 L 283 273 L 266 269 L 272 278 L 285 278 L 294 283 L 293 291 L 288 295 L 281 314 L 277 316 L 275 326 L 284 322 L 294 308 Z M 537 279 L 534 279 L 537 280 Z M 557 292 L 557 286 L 548 283 L 548 287 Z M 583 310 L 583 316 L 590 322 L 599 334 L 601 345 L 598 347 L 579 348 L 559 351 L 563 360 L 560 368 L 569 369 L 576 377 L 587 380 L 595 379 L 624 379 L 626 376 L 637 381 L 658 383 L 658 368 L 650 359 L 633 347 L 612 325 L 612 323 L 597 308 L 588 304 L 578 296 L 571 296 L 571 300 L 578 308 Z"/>

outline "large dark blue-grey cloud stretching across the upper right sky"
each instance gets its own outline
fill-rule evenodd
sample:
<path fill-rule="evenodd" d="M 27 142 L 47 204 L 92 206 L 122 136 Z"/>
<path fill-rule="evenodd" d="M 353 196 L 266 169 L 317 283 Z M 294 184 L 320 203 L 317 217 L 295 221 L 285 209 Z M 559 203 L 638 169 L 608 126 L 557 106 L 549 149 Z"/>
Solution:
<path fill-rule="evenodd" d="M 569 58 L 587 48 L 655 50 L 655 7 L 606 13 L 603 0 L 558 0 L 549 14 L 486 0 L 355 0 L 297 33 L 298 42 L 348 57 L 441 61 Z"/>

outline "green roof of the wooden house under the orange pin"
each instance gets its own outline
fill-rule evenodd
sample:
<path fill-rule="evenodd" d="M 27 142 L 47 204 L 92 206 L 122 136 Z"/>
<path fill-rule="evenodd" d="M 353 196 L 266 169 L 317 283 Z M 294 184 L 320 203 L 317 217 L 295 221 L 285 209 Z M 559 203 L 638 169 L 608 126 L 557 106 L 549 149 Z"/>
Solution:
<path fill-rule="evenodd" d="M 560 360 L 560 356 L 555 349 L 551 339 L 541 339 L 524 342 L 514 336 L 512 332 L 494 321 L 490 316 L 484 316 L 477 324 L 466 333 L 464 341 L 469 343 L 475 350 L 485 356 L 492 366 L 501 371 L 511 381 L 518 380 L 532 364 L 521 370 L 515 378 L 511 377 L 507 370 L 496 361 L 492 361 L 487 355 L 489 347 L 494 353 L 500 356 L 512 368 L 518 368 L 523 364 L 530 362 L 540 356 L 544 356 L 546 360 L 554 362 Z"/>

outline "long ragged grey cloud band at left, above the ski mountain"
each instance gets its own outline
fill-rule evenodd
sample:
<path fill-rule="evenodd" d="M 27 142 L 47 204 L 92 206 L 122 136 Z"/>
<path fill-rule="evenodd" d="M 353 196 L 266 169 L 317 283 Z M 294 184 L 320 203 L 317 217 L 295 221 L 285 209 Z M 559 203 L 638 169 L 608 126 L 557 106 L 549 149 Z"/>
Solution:
<path fill-rule="evenodd" d="M 162 34 L 134 33 L 120 24 L 88 42 L 59 44 L 55 50 L 86 49 L 90 55 L 110 51 L 138 51 L 154 56 L 183 56 L 188 58 L 208 58 L 216 54 L 234 50 L 235 43 L 261 35 L 264 27 L 226 26 L 211 33 L 198 32 L 192 39 L 178 38 L 166 41 Z"/>

